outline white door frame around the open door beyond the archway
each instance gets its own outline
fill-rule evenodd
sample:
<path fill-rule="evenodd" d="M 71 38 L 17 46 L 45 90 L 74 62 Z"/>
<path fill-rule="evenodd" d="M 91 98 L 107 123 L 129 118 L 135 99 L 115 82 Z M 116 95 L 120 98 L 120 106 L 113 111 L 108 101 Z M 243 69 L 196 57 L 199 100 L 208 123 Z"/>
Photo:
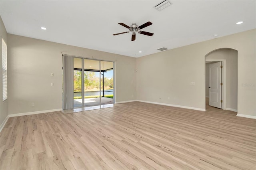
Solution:
<path fill-rule="evenodd" d="M 204 68 L 205 68 L 205 64 L 206 64 L 206 61 L 213 61 L 213 62 L 221 62 L 222 63 L 222 92 L 221 92 L 221 95 L 222 95 L 222 110 L 226 110 L 226 59 L 205 59 L 205 62 L 204 62 Z M 206 76 L 206 70 L 204 69 L 204 77 Z M 209 76 L 209 75 L 208 75 Z M 206 88 L 206 79 L 204 78 L 204 88 Z M 205 103 L 205 106 L 204 108 L 206 109 L 206 102 L 205 102 L 205 94 L 204 94 L 204 103 Z"/>

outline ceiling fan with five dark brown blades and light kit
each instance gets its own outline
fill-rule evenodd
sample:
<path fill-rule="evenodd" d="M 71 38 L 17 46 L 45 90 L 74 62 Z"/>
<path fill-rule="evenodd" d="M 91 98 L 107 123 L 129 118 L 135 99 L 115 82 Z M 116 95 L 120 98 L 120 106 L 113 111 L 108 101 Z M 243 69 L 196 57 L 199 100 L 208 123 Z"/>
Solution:
<path fill-rule="evenodd" d="M 121 26 L 124 26 L 126 28 L 129 29 L 129 31 L 127 32 L 121 32 L 121 33 L 118 33 L 118 34 L 113 34 L 113 36 L 116 36 L 116 35 L 119 35 L 119 34 L 125 34 L 125 33 L 129 33 L 129 32 L 132 32 L 132 41 L 134 41 L 136 39 L 136 32 L 138 32 L 139 34 L 143 34 L 143 35 L 146 35 L 146 36 L 153 36 L 154 34 L 151 33 L 151 32 L 145 32 L 145 31 L 142 31 L 141 29 L 147 27 L 147 26 L 150 26 L 152 25 L 152 22 L 146 22 L 145 24 L 142 24 L 141 26 L 138 26 L 137 24 L 133 23 L 130 27 L 127 26 L 126 24 L 120 22 L 118 23 L 120 24 Z"/>

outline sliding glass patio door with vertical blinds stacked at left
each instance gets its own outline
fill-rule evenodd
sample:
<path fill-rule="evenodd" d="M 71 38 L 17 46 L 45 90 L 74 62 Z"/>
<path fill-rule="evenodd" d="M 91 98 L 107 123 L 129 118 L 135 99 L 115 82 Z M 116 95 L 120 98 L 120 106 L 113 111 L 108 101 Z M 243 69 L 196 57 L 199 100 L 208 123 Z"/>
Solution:
<path fill-rule="evenodd" d="M 63 109 L 114 104 L 114 62 L 63 55 Z"/>

